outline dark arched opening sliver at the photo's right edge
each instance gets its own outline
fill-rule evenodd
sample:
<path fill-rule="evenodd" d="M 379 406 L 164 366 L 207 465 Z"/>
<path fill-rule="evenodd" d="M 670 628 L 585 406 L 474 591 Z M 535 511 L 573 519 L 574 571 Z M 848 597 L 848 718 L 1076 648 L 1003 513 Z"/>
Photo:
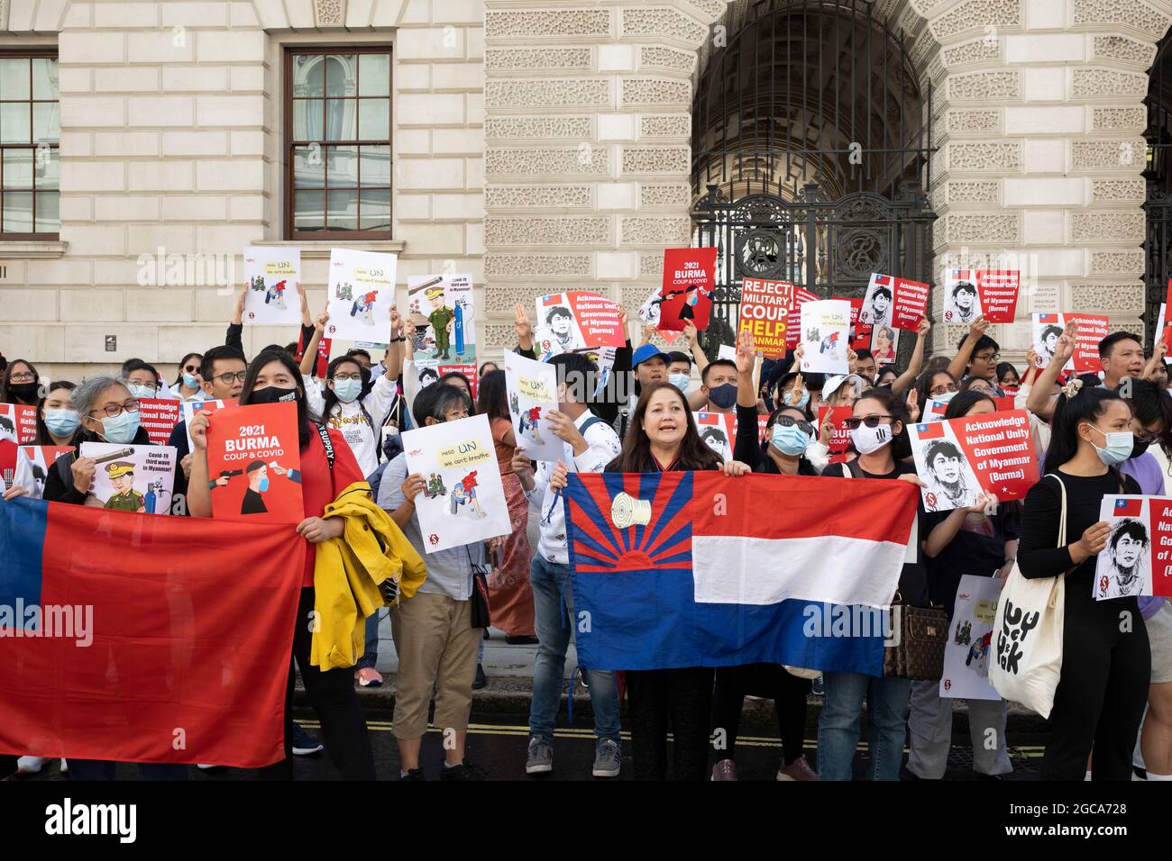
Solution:
<path fill-rule="evenodd" d="M 1144 329 L 1146 343 L 1154 342 L 1159 326 L 1160 302 L 1167 296 L 1172 279 L 1172 32 L 1156 48 L 1156 61 L 1149 70 L 1147 162 L 1144 213 Z"/>

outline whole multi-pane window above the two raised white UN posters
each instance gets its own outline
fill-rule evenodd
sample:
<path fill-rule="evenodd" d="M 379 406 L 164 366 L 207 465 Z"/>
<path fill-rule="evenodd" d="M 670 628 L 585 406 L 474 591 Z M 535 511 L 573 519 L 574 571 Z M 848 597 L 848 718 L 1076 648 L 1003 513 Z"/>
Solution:
<path fill-rule="evenodd" d="M 286 238 L 390 239 L 390 47 L 291 47 L 285 82 Z"/>

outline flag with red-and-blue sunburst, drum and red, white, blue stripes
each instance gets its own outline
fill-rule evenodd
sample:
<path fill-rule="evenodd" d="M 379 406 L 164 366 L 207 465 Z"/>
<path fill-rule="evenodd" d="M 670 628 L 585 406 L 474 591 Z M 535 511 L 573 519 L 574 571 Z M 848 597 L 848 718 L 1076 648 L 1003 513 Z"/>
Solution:
<path fill-rule="evenodd" d="M 881 675 L 918 496 L 906 481 L 571 473 L 579 662 Z"/>

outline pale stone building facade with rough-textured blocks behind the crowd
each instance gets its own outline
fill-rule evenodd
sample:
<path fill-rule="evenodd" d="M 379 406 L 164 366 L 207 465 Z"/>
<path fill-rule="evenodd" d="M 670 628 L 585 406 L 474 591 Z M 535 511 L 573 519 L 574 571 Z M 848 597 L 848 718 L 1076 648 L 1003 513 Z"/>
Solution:
<path fill-rule="evenodd" d="M 744 0 L 732 0 L 734 5 Z M 481 341 L 515 301 L 592 288 L 629 309 L 690 241 L 691 104 L 727 0 L 0 1 L 0 47 L 55 47 L 60 237 L 4 241 L 0 349 L 80 376 L 218 342 L 232 291 L 142 286 L 141 254 L 289 241 L 282 52 L 391 46 L 400 280 L 475 276 Z M 1165 0 L 873 0 L 935 94 L 933 271 L 1020 268 L 1028 314 L 1142 329 L 1147 69 Z M 183 36 L 179 39 L 179 36 Z M 329 240 L 300 241 L 311 305 Z M 934 300 L 939 319 L 940 298 Z M 949 330 L 953 328 L 953 330 Z M 939 326 L 933 346 L 961 334 Z M 246 347 L 288 340 L 264 328 Z"/>

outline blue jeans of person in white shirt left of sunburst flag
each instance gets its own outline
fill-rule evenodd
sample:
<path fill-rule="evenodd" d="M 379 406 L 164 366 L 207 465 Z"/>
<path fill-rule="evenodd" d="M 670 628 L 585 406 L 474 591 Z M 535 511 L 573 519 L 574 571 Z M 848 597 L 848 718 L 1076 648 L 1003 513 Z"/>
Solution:
<path fill-rule="evenodd" d="M 533 556 L 530 569 L 533 585 L 533 630 L 537 658 L 533 661 L 533 701 L 529 710 L 529 734 L 553 740 L 553 724 L 561 703 L 561 681 L 566 649 L 573 635 L 574 595 L 570 566 Z M 563 614 L 565 606 L 565 614 Z M 619 740 L 619 690 L 614 674 L 586 670 L 590 702 L 594 709 L 594 734 Z"/>

